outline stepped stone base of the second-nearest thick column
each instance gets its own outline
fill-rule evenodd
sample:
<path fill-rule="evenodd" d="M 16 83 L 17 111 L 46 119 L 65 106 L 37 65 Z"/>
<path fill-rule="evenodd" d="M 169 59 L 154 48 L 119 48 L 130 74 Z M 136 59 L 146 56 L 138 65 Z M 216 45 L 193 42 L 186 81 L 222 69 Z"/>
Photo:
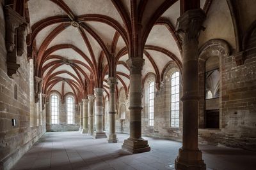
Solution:
<path fill-rule="evenodd" d="M 140 139 L 125 139 L 124 144 L 122 145 L 122 150 L 125 150 L 130 153 L 142 153 L 149 152 L 150 146 L 148 146 L 148 141 L 143 138 Z"/>

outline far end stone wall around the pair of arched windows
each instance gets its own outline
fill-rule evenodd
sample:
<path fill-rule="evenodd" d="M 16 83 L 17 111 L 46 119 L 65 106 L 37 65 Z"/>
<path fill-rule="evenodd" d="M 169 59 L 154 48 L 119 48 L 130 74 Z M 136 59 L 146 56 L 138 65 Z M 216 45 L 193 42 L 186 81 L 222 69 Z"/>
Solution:
<path fill-rule="evenodd" d="M 60 98 L 59 98 L 60 99 Z M 66 101 L 66 100 L 65 100 Z M 51 124 L 51 104 L 47 101 L 46 110 L 46 131 L 78 131 L 80 127 L 79 104 L 75 104 L 74 124 L 67 124 L 67 104 L 59 100 L 59 124 Z"/>

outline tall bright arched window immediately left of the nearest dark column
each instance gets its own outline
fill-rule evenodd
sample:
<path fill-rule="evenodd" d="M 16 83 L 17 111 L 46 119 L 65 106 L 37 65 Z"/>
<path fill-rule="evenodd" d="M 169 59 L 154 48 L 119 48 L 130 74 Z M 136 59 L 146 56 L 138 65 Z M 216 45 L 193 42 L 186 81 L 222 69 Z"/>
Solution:
<path fill-rule="evenodd" d="M 180 107 L 180 75 L 175 71 L 171 75 L 171 127 L 179 127 L 179 107 Z"/>

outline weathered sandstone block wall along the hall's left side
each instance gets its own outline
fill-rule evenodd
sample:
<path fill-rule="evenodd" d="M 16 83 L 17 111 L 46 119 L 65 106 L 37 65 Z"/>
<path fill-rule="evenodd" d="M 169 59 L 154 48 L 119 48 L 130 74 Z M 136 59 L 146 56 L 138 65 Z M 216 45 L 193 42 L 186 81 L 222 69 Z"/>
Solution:
<path fill-rule="evenodd" d="M 3 1 L 0 3 L 0 169 L 10 169 L 44 134 L 45 125 L 40 122 L 45 116 L 40 104 L 33 103 L 35 109 L 30 111 L 29 82 L 33 80 L 29 79 L 26 49 L 17 57 L 17 73 L 12 78 L 7 75 Z M 42 117 L 36 117 L 38 124 L 30 124 L 30 115 L 38 115 L 37 110 Z M 16 126 L 12 119 L 17 120 Z"/>

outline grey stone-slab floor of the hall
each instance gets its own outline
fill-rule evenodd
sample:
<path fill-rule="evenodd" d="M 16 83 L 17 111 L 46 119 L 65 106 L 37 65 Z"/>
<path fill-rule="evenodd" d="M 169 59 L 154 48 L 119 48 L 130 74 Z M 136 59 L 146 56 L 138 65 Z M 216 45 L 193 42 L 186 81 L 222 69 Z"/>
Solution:
<path fill-rule="evenodd" d="M 151 151 L 131 155 L 120 150 L 126 138 L 118 134 L 118 143 L 112 144 L 79 132 L 47 132 L 13 169 L 173 169 L 181 143 L 145 138 Z M 255 152 L 209 145 L 200 149 L 207 169 L 255 169 Z"/>

